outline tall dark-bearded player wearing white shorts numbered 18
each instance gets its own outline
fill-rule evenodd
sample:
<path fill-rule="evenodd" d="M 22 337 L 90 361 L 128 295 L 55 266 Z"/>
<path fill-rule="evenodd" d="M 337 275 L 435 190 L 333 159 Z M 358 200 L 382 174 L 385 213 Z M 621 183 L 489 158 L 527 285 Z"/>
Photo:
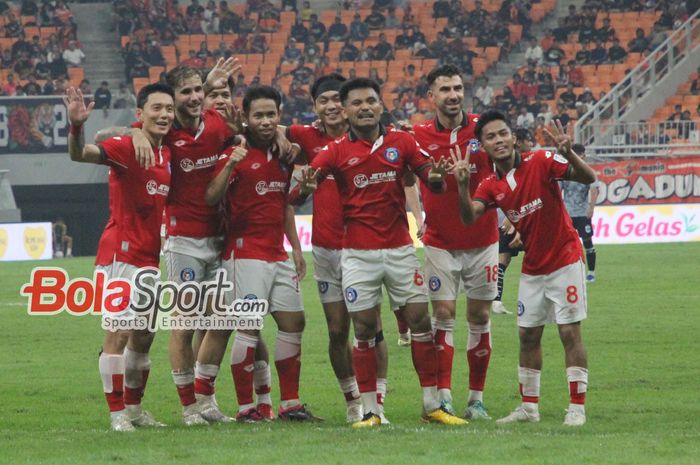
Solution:
<path fill-rule="evenodd" d="M 470 185 L 473 191 L 493 173 L 493 164 L 479 147 L 474 128 L 478 115 L 462 110 L 464 83 L 452 65 L 435 68 L 427 76 L 428 97 L 435 104 L 435 119 L 414 126 L 416 140 L 434 160 L 450 160 L 457 145 L 470 156 Z M 457 296 L 467 294 L 467 362 L 469 399 L 465 417 L 490 419 L 483 403 L 486 372 L 491 358 L 491 301 L 498 282 L 498 220 L 491 210 L 475 224 L 465 226 L 455 215 L 459 209 L 457 182 L 447 179 L 447 191 L 434 194 L 424 184 L 425 275 L 433 305 L 433 331 L 438 348 L 438 395 L 443 407 L 452 407 L 452 360 Z"/>

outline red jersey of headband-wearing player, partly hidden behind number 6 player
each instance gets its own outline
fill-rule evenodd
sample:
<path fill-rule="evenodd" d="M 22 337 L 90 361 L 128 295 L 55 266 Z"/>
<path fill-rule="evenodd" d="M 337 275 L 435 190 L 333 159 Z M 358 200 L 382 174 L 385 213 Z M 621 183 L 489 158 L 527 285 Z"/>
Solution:
<path fill-rule="evenodd" d="M 313 126 L 294 124 L 289 126 L 287 137 L 299 144 L 311 163 L 316 155 L 335 140 Z M 327 249 L 343 248 L 343 212 L 340 208 L 340 194 L 333 176 L 322 182 L 313 196 L 313 223 L 311 243 Z"/>

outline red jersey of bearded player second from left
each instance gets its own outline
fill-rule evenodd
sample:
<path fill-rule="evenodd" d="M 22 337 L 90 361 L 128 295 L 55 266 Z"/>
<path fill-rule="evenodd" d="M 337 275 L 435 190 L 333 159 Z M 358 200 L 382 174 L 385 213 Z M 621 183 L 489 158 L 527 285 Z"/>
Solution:
<path fill-rule="evenodd" d="M 173 155 L 173 189 L 168 198 L 168 235 L 216 236 L 220 221 L 217 207 L 207 205 L 205 196 L 219 154 L 233 135 L 216 110 L 202 114 L 196 132 L 177 122 L 165 137 Z"/>

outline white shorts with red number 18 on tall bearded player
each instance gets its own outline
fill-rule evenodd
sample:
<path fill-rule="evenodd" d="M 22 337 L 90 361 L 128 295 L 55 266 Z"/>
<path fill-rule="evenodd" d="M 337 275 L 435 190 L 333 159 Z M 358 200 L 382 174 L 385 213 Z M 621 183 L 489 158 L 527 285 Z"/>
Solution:
<path fill-rule="evenodd" d="M 498 294 L 498 243 L 479 249 L 445 250 L 425 246 L 425 276 L 430 300 L 467 297 L 493 300 Z"/>

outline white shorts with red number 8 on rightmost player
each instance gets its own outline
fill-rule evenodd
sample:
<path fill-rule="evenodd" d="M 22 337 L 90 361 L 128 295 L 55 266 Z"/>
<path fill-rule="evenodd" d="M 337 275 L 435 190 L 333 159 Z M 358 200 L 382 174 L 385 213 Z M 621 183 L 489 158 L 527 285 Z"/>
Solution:
<path fill-rule="evenodd" d="M 585 320 L 586 266 L 572 263 L 544 275 L 520 275 L 518 326 L 535 328 L 546 323 L 569 324 Z"/>

